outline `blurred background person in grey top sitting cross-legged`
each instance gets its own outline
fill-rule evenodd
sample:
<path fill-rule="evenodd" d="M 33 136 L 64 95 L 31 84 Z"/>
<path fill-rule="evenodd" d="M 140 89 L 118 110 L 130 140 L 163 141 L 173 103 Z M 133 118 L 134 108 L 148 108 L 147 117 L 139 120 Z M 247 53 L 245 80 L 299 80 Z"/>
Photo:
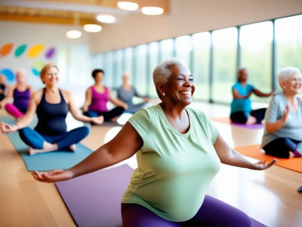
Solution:
<path fill-rule="evenodd" d="M 126 113 L 134 114 L 149 102 L 149 98 L 139 95 L 136 88 L 130 85 L 129 80 L 130 80 L 130 75 L 124 73 L 123 85 L 117 89 L 117 98 L 128 105 L 128 109 L 125 111 Z M 133 97 L 142 98 L 144 102 L 139 104 L 133 104 L 132 101 Z"/>

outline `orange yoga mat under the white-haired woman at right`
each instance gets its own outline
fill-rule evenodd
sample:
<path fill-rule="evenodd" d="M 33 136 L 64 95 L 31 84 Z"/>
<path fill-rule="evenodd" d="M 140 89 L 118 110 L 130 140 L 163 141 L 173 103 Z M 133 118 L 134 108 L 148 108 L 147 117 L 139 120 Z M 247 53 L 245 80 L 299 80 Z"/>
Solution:
<path fill-rule="evenodd" d="M 261 153 L 260 145 L 238 146 L 235 147 L 234 149 L 238 151 L 240 154 L 243 154 L 245 156 L 257 160 L 266 160 L 267 162 L 270 162 L 271 160 L 276 158 Z M 278 162 L 276 163 L 277 166 L 281 166 L 283 168 L 302 173 L 302 158 L 291 158 L 291 159 L 276 158 L 276 159 L 278 160 Z"/>

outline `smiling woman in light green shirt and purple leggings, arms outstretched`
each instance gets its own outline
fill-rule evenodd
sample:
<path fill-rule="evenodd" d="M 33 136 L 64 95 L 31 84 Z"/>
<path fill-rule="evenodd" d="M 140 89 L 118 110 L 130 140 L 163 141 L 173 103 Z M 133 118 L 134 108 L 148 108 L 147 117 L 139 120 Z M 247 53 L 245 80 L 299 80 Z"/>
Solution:
<path fill-rule="evenodd" d="M 263 170 L 276 160 L 249 162 L 227 145 L 203 112 L 188 107 L 195 86 L 182 61 L 159 64 L 153 80 L 160 104 L 135 113 L 114 139 L 76 166 L 35 171 L 35 179 L 67 180 L 136 154 L 138 168 L 122 198 L 124 227 L 251 227 L 245 213 L 205 193 L 221 163 Z"/>

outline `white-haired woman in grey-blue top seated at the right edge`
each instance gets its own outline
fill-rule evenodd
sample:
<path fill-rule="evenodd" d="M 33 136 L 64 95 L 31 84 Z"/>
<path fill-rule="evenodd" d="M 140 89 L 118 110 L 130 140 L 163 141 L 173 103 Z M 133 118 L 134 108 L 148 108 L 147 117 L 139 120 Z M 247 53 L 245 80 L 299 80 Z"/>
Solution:
<path fill-rule="evenodd" d="M 301 157 L 302 99 L 301 71 L 285 67 L 278 74 L 282 92 L 272 97 L 265 113 L 265 132 L 262 149 L 278 158 Z"/>

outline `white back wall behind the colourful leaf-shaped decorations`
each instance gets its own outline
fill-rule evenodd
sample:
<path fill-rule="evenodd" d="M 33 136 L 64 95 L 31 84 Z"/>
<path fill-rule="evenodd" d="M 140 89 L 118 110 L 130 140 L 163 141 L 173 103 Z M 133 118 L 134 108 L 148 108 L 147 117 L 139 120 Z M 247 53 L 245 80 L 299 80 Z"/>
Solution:
<path fill-rule="evenodd" d="M 3 68 L 10 69 L 15 73 L 19 69 L 24 69 L 27 74 L 27 82 L 38 89 L 43 87 L 39 76 L 35 75 L 32 68 L 40 62 L 41 65 L 53 62 L 60 70 L 60 86 L 69 88 L 68 90 L 82 90 L 92 83 L 90 68 L 91 34 L 82 28 L 82 37 L 69 39 L 66 32 L 74 29 L 73 26 L 40 25 L 0 21 L 0 48 L 8 43 L 14 46 L 6 56 L 0 57 L 0 71 Z M 20 46 L 26 44 L 24 53 L 15 57 L 15 51 Z M 28 57 L 31 48 L 37 44 L 43 44 L 44 49 L 35 58 Z M 54 47 L 55 55 L 51 59 L 45 58 L 45 52 Z M 42 63 L 41 63 L 42 62 Z M 39 64 L 38 64 L 39 66 Z M 14 81 L 7 81 L 13 84 Z M 68 86 L 67 86 L 68 85 Z"/>

